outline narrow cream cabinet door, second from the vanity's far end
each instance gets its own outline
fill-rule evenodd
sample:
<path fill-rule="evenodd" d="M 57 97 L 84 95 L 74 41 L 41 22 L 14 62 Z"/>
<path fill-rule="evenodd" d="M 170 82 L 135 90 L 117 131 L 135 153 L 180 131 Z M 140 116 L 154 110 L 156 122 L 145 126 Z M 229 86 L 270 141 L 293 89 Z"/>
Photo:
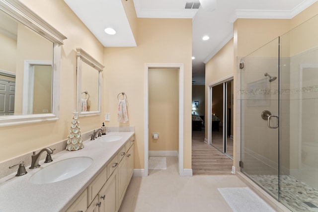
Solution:
<path fill-rule="evenodd" d="M 123 159 L 118 166 L 118 205 L 120 206 L 125 190 L 127 188 L 127 182 L 128 182 L 128 167 L 127 167 L 127 157 Z"/>

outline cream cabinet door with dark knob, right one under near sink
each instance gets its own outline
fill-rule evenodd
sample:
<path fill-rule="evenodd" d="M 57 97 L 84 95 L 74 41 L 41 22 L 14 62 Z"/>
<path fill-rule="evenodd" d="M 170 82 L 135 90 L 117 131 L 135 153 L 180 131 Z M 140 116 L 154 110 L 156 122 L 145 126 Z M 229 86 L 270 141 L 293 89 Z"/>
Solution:
<path fill-rule="evenodd" d="M 99 212 L 116 212 L 116 181 L 117 171 L 115 170 L 98 194 L 101 202 Z"/>

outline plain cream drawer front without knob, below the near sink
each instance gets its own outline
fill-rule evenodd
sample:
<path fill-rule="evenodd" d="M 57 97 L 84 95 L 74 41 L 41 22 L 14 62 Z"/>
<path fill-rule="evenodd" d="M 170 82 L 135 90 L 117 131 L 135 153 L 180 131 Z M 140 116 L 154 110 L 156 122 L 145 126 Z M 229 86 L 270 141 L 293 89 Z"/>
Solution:
<path fill-rule="evenodd" d="M 91 201 L 98 194 L 107 180 L 107 169 L 104 168 L 98 176 L 87 187 L 87 205 L 89 206 Z"/>

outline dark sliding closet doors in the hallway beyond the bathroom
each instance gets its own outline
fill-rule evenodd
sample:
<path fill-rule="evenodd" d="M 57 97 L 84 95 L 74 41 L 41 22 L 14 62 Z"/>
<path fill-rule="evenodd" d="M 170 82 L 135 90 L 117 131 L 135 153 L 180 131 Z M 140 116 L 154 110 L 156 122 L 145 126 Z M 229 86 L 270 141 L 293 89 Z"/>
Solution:
<path fill-rule="evenodd" d="M 209 144 L 233 160 L 233 77 L 209 85 Z"/>

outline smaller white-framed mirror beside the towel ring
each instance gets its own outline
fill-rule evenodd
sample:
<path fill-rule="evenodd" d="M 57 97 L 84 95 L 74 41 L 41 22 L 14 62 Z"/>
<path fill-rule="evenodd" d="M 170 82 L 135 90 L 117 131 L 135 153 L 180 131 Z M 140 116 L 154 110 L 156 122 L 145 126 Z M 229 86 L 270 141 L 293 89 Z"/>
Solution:
<path fill-rule="evenodd" d="M 81 48 L 77 55 L 77 111 L 79 116 L 100 114 L 101 71 L 104 66 Z"/>

